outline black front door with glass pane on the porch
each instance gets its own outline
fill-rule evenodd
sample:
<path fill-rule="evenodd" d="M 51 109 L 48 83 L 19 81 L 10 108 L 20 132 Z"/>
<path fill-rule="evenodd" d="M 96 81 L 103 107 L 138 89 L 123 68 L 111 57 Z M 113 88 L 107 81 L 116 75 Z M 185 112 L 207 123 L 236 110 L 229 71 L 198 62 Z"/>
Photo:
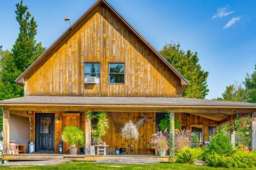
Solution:
<path fill-rule="evenodd" d="M 54 114 L 36 113 L 36 151 L 54 150 Z"/>

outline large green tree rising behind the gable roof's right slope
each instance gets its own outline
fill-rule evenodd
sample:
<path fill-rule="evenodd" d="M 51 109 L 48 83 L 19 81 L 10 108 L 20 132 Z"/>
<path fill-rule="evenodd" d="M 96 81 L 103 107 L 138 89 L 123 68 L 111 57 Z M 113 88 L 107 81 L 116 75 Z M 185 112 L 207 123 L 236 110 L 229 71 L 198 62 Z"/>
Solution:
<path fill-rule="evenodd" d="M 189 84 L 183 97 L 187 98 L 205 98 L 209 89 L 207 89 L 207 77 L 209 72 L 202 70 L 198 64 L 199 58 L 197 52 L 190 50 L 185 52 L 180 49 L 180 44 L 165 44 L 160 53 L 171 65 L 188 80 Z"/>

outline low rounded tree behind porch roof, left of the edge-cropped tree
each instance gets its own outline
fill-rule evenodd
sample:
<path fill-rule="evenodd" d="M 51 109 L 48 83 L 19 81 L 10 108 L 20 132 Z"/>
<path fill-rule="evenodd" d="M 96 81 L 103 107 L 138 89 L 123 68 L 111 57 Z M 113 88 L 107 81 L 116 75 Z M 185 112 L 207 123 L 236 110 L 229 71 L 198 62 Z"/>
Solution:
<path fill-rule="evenodd" d="M 246 100 L 247 93 L 243 88 L 243 84 L 234 83 L 226 86 L 226 90 L 221 95 L 222 98 L 218 97 L 217 100 L 244 102 Z"/>

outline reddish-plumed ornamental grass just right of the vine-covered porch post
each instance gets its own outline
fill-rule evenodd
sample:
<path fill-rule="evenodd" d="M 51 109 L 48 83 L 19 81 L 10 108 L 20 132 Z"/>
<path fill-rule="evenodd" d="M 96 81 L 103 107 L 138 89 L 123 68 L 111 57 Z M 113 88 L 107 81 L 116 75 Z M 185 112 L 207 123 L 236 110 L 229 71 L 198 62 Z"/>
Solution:
<path fill-rule="evenodd" d="M 181 131 L 175 130 L 174 138 L 174 148 L 175 151 L 178 152 L 180 149 L 191 147 L 193 133 L 191 133 L 189 129 L 183 129 Z"/>

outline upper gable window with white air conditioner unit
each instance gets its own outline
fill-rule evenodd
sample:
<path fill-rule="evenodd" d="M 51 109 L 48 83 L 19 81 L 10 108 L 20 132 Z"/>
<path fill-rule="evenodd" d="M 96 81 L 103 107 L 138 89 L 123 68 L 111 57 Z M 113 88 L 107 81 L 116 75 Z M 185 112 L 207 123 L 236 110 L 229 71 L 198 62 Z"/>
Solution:
<path fill-rule="evenodd" d="M 84 63 L 84 78 L 85 83 L 100 82 L 100 63 Z"/>

